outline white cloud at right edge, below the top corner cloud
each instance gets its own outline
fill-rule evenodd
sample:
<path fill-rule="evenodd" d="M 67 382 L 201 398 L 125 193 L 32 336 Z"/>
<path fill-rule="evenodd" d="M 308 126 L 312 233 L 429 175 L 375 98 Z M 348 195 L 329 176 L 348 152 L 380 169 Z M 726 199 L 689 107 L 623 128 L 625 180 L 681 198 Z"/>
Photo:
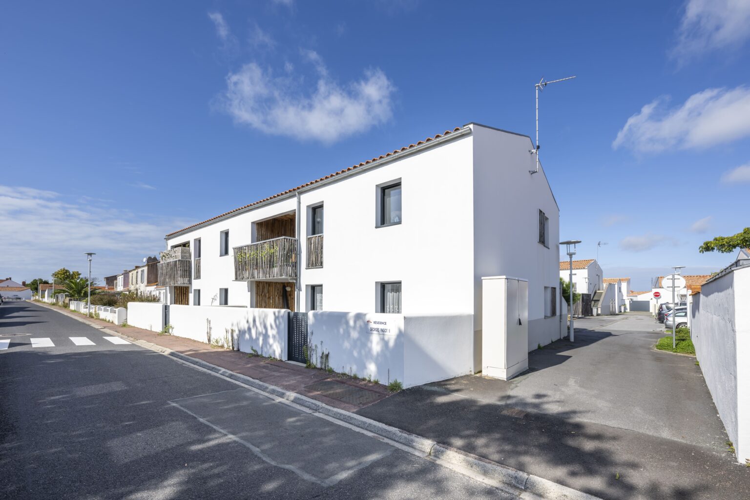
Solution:
<path fill-rule="evenodd" d="M 708 88 L 682 106 L 652 101 L 628 118 L 612 142 L 641 153 L 700 149 L 750 136 L 750 88 Z"/>

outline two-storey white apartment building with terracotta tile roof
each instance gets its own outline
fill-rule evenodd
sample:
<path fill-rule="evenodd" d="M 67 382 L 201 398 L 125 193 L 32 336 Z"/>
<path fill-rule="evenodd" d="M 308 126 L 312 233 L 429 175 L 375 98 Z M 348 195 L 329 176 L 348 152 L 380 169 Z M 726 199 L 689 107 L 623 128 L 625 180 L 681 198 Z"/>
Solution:
<path fill-rule="evenodd" d="M 475 123 L 437 134 L 166 235 L 159 284 L 168 304 L 470 313 L 479 360 L 481 278 L 520 277 L 534 349 L 561 308 L 559 208 L 532 149 Z"/>

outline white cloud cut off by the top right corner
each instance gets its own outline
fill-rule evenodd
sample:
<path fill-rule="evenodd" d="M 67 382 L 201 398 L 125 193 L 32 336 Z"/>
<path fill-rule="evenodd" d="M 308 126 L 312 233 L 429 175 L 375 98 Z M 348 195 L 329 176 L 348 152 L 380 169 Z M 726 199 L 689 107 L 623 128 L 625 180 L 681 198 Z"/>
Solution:
<path fill-rule="evenodd" d="M 750 37 L 750 1 L 688 0 L 672 54 L 680 61 L 693 55 L 739 46 Z"/>

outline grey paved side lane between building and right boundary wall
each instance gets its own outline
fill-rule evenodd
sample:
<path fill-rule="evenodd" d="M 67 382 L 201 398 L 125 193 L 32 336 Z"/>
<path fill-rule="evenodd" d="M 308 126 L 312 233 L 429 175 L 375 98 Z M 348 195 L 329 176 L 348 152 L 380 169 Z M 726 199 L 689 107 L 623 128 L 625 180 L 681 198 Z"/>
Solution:
<path fill-rule="evenodd" d="M 464 376 L 357 413 L 602 499 L 750 498 L 694 358 L 652 351 L 650 317 L 576 323 L 592 330 L 510 382 Z"/>

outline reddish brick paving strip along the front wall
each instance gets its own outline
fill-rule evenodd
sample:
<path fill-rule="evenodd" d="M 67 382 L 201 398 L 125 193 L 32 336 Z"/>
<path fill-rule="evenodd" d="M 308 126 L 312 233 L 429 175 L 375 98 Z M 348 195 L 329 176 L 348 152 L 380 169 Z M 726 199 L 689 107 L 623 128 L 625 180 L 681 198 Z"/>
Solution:
<path fill-rule="evenodd" d="M 152 343 L 183 355 L 214 364 L 234 373 L 260 380 L 269 385 L 302 394 L 334 408 L 356 412 L 373 403 L 389 397 L 388 389 L 380 384 L 359 381 L 338 373 L 305 368 L 287 361 L 275 361 L 260 356 L 249 357 L 246 352 L 212 348 L 197 340 L 160 335 L 157 332 L 134 326 L 114 325 L 102 319 L 94 319 L 85 314 L 59 307 L 54 304 L 36 302 L 42 306 L 60 310 L 76 319 L 85 319 L 99 328 L 107 328 L 124 337 Z"/>

